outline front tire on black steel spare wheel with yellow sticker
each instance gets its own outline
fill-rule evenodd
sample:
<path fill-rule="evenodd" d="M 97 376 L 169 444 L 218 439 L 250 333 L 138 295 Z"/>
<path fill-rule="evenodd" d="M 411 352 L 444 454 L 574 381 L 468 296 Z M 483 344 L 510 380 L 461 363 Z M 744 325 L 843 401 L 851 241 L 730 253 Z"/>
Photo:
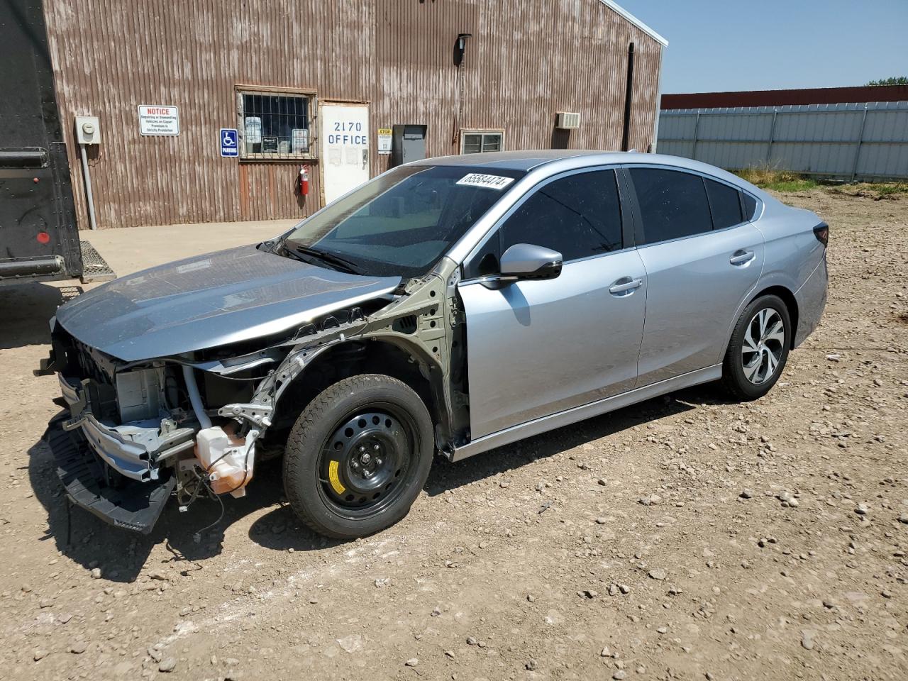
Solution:
<path fill-rule="evenodd" d="M 319 534 L 366 537 L 407 515 L 434 451 L 432 419 L 414 390 L 382 374 L 351 376 L 323 390 L 293 425 L 284 490 Z"/>

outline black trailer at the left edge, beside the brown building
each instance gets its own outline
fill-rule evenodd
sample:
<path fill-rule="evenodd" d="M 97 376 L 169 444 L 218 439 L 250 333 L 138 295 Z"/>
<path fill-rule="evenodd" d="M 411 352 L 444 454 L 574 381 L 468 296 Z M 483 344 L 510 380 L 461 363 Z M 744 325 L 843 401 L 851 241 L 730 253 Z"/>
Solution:
<path fill-rule="evenodd" d="M 0 0 L 0 286 L 113 279 L 80 242 L 40 0 Z"/>

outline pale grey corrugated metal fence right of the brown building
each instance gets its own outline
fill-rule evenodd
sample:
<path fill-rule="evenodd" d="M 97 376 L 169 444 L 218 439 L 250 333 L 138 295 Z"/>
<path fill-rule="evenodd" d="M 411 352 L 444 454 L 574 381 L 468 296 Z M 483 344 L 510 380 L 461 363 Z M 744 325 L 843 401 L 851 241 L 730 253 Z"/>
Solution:
<path fill-rule="evenodd" d="M 908 102 L 663 111 L 659 151 L 720 168 L 908 178 Z"/>

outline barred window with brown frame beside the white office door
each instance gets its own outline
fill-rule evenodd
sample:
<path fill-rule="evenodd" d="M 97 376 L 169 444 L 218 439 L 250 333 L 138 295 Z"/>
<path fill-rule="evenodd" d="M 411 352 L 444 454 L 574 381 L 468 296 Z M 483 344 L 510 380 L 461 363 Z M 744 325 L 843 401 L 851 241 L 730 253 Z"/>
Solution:
<path fill-rule="evenodd" d="M 314 157 L 314 100 L 312 94 L 238 90 L 241 158 Z"/>

